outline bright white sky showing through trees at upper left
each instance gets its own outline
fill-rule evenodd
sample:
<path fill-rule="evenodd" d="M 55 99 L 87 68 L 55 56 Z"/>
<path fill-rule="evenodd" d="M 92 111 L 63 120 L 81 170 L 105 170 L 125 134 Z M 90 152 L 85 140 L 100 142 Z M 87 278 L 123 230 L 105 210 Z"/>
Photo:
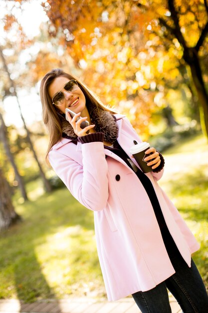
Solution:
<path fill-rule="evenodd" d="M 16 17 L 17 21 L 21 24 L 23 31 L 28 38 L 33 39 L 40 33 L 40 24 L 48 20 L 46 13 L 43 11 L 40 3 L 41 1 L 34 0 L 20 5 L 19 2 L 14 3 L 14 1 L 1 1 L 0 45 L 4 45 L 6 39 L 9 39 L 13 44 L 15 44 L 18 38 L 18 33 L 15 31 L 15 29 L 11 29 L 9 32 L 5 33 L 2 27 L 2 19 L 4 15 L 11 11 Z M 31 45 L 31 47 L 27 47 L 26 49 L 20 51 L 18 55 L 19 66 L 24 68 L 25 62 L 31 58 L 30 54 L 36 54 L 39 48 L 40 45 L 36 43 Z M 12 55 L 13 53 L 14 51 L 12 51 L 12 49 L 4 49 L 5 56 Z M 13 75 L 15 74 L 13 73 Z M 26 90 L 22 87 L 18 93 L 22 113 L 25 116 L 28 124 L 31 124 L 35 120 L 41 120 L 41 104 L 37 92 L 38 87 L 34 85 L 31 86 L 30 90 Z M 16 99 L 13 96 L 6 97 L 3 108 L 5 110 L 4 120 L 6 125 L 14 124 L 17 127 L 21 127 L 22 120 L 19 115 Z"/>

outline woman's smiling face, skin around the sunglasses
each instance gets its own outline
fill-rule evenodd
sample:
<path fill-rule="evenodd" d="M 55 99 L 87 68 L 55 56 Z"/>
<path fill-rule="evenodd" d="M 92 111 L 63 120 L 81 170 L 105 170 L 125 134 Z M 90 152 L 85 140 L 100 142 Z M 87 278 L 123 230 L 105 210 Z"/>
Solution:
<path fill-rule="evenodd" d="M 75 113 L 81 112 L 81 116 L 86 116 L 85 111 L 86 111 L 86 99 L 84 96 L 84 93 L 80 89 L 80 87 L 77 85 L 75 89 L 72 91 L 67 91 L 63 87 L 64 85 L 69 81 L 67 77 L 64 76 L 58 76 L 53 81 L 48 87 L 48 93 L 49 96 L 52 98 L 53 96 L 58 92 L 62 91 L 64 94 L 64 101 L 61 105 L 55 105 L 56 108 L 58 108 L 62 113 L 65 113 L 65 108 L 70 108 Z"/>

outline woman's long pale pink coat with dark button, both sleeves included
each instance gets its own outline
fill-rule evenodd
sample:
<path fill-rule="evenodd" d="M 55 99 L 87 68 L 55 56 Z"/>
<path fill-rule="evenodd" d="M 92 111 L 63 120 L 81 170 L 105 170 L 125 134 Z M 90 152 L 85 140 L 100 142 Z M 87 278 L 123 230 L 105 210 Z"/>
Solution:
<path fill-rule="evenodd" d="M 124 115 L 115 116 L 118 142 L 138 166 L 129 151 L 133 140 L 141 139 Z M 75 145 L 62 138 L 50 150 L 49 161 L 72 195 L 94 211 L 108 300 L 149 290 L 175 273 L 150 199 L 135 172 L 119 156 L 105 149 L 102 142 Z M 146 175 L 153 183 L 169 231 L 190 267 L 191 254 L 200 246 L 160 188 L 157 180 L 162 174 L 163 170 Z"/>

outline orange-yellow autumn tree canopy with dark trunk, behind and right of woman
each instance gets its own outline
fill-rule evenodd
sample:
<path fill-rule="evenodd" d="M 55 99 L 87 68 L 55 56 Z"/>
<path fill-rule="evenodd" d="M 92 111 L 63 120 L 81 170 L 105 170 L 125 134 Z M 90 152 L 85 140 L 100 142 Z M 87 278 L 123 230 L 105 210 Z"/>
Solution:
<path fill-rule="evenodd" d="M 139 120 L 140 129 L 156 107 L 155 95 L 186 82 L 183 67 L 189 66 L 208 132 L 201 61 L 207 55 L 206 0 L 47 0 L 42 5 L 49 33 L 83 69 L 85 81 L 107 102 L 119 103 L 133 123 Z"/>

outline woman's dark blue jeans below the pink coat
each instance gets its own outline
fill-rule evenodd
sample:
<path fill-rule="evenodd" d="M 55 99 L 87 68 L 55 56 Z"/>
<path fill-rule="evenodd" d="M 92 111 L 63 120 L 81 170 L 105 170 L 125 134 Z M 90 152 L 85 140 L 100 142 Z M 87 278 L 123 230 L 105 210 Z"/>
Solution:
<path fill-rule="evenodd" d="M 171 261 L 175 274 L 151 290 L 132 294 L 142 313 L 171 313 L 167 288 L 184 313 L 208 313 L 208 294 L 193 259 L 191 267 L 179 253 Z"/>

